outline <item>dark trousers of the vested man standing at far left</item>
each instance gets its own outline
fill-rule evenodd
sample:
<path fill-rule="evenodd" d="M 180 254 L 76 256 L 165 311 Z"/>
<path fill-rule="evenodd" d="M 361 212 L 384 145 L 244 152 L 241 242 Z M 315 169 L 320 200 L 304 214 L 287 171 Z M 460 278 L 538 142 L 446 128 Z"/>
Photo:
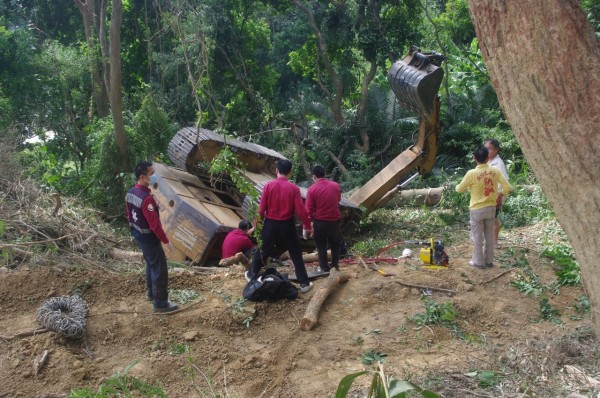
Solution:
<path fill-rule="evenodd" d="M 155 307 L 166 307 L 169 303 L 169 271 L 160 240 L 141 239 L 135 233 L 133 236 L 146 260 L 146 291 L 152 293 Z"/>

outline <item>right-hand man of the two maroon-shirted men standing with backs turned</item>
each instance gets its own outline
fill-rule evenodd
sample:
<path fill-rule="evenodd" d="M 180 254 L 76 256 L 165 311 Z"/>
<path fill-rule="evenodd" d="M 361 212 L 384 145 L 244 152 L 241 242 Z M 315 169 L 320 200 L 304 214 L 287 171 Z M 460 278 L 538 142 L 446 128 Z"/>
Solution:
<path fill-rule="evenodd" d="M 312 168 L 312 178 L 315 183 L 306 194 L 306 212 L 313 221 L 321 271 L 327 272 L 332 267 L 339 269 L 343 239 L 339 209 L 342 189 L 337 182 L 325 178 L 325 169 L 319 164 Z M 327 243 L 331 247 L 331 267 L 327 263 Z"/>

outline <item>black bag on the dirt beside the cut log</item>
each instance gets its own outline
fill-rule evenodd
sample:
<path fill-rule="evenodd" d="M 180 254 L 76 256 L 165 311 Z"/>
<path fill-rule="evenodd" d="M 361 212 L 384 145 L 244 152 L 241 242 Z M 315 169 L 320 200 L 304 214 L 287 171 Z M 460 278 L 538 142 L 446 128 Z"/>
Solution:
<path fill-rule="evenodd" d="M 298 289 L 275 268 L 267 268 L 248 282 L 244 288 L 243 296 L 250 301 L 277 301 L 282 299 L 295 300 Z"/>

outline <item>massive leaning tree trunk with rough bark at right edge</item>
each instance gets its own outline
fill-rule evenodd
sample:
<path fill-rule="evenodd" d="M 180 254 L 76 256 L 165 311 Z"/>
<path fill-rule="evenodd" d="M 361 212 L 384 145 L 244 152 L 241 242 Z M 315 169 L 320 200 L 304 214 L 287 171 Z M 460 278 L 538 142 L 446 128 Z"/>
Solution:
<path fill-rule="evenodd" d="M 565 230 L 600 336 L 600 45 L 578 0 L 469 0 L 492 84 Z"/>

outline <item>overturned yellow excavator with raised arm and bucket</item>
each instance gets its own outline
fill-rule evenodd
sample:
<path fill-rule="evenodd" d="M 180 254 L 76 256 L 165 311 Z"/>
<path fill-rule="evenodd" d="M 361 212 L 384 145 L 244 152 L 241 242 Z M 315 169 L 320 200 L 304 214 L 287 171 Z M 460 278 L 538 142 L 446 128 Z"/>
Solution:
<path fill-rule="evenodd" d="M 427 173 L 433 168 L 440 136 L 437 92 L 443 60 L 441 54 L 413 47 L 388 71 L 388 82 L 400 106 L 419 114 L 417 142 L 350 198 L 342 199 L 343 225 L 356 220 L 361 207 L 371 211 L 387 202 L 411 171 Z M 210 162 L 225 145 L 245 165 L 245 176 L 259 191 L 275 178 L 275 163 L 284 158 L 271 149 L 210 130 L 187 127 L 178 131 L 168 148 L 175 166 L 155 163 L 157 181 L 151 187 L 173 245 L 167 254 L 171 260 L 187 260 L 192 265 L 218 263 L 225 235 L 247 217 L 248 203 L 235 184 L 227 178 L 212 179 L 208 172 Z M 306 190 L 301 188 L 301 193 L 305 197 Z"/>

